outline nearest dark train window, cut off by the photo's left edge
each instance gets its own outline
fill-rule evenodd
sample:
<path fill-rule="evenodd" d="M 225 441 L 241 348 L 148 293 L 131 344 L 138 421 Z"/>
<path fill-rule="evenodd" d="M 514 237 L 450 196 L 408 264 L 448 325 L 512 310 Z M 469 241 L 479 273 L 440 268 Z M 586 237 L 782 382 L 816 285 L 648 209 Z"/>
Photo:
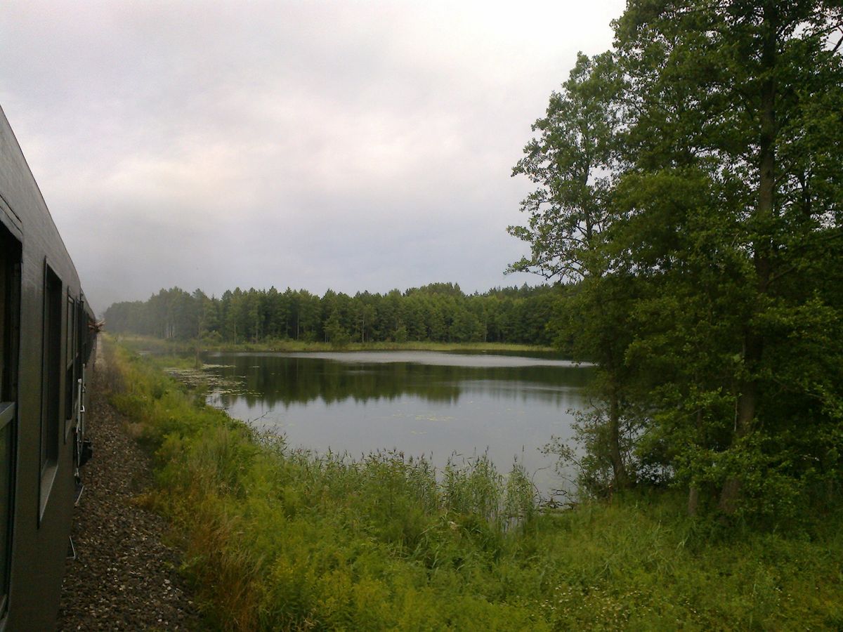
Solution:
<path fill-rule="evenodd" d="M 6 613 L 12 544 L 20 254 L 19 241 L 0 224 L 0 618 Z"/>

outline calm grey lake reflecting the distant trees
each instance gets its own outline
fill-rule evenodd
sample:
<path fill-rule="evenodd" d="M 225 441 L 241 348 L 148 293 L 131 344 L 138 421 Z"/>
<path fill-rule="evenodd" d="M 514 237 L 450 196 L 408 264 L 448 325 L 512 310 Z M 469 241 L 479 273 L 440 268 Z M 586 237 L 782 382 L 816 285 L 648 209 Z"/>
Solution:
<path fill-rule="evenodd" d="M 551 437 L 570 438 L 572 410 L 592 375 L 549 355 L 362 351 L 207 353 L 207 370 L 234 378 L 209 403 L 287 436 L 292 446 L 352 457 L 378 450 L 425 455 L 441 469 L 488 453 L 502 473 L 523 463 L 545 497 L 566 485 Z"/>

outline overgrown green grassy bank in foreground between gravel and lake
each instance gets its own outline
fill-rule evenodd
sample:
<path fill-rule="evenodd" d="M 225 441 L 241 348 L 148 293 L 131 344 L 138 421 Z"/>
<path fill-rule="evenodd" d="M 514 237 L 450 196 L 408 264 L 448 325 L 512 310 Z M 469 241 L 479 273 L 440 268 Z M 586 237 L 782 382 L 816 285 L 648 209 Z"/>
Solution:
<path fill-rule="evenodd" d="M 220 629 L 835 629 L 840 516 L 725 532 L 669 494 L 541 513 L 518 470 L 293 450 L 106 345 Z"/>

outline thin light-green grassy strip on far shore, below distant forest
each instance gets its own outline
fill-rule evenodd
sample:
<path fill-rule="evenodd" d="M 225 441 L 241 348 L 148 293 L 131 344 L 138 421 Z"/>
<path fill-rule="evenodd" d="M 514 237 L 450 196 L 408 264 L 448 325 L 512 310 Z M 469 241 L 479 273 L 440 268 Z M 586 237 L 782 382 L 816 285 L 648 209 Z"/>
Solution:
<path fill-rule="evenodd" d="M 271 340 L 260 343 L 239 343 L 234 345 L 225 342 L 211 342 L 207 340 L 162 340 L 147 336 L 121 335 L 121 344 L 134 350 L 156 351 L 163 353 L 186 353 L 196 351 L 468 351 L 488 353 L 501 352 L 530 352 L 554 351 L 552 347 L 537 345 L 508 345 L 500 342 L 428 342 L 426 340 L 409 340 L 407 342 L 350 342 L 337 347 L 328 342 L 308 342 L 305 340 Z"/>

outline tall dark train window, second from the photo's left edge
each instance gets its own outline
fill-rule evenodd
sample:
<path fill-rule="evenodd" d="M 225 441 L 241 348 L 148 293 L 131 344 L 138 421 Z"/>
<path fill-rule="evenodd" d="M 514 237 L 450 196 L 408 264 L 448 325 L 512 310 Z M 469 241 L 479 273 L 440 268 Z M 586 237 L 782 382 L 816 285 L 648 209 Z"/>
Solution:
<path fill-rule="evenodd" d="M 62 405 L 62 281 L 49 265 L 44 278 L 44 364 L 41 400 L 40 515 L 56 474 Z"/>

